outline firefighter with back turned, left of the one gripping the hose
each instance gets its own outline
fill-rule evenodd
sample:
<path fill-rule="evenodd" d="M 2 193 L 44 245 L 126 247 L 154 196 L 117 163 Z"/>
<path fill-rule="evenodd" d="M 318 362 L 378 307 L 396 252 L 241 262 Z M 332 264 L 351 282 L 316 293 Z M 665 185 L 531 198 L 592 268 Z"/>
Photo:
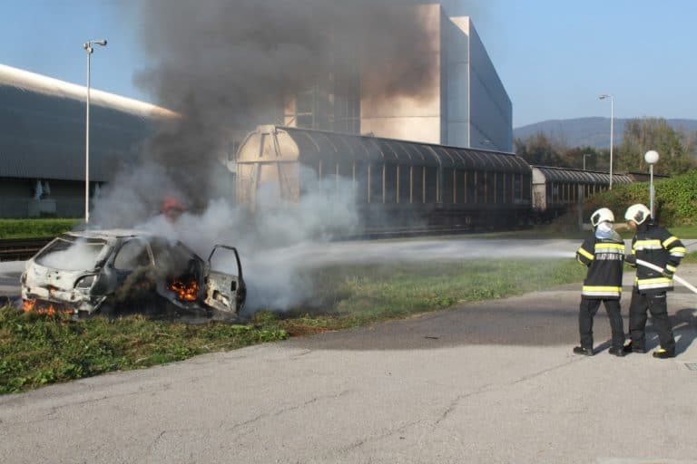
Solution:
<path fill-rule="evenodd" d="M 614 214 L 608 208 L 600 208 L 591 215 L 593 233 L 576 250 L 576 259 L 588 266 L 581 304 L 578 310 L 578 332 L 581 345 L 574 353 L 593 356 L 593 318 L 604 303 L 613 333 L 610 353 L 623 356 L 624 328 L 620 313 L 624 242 L 613 228 Z"/>

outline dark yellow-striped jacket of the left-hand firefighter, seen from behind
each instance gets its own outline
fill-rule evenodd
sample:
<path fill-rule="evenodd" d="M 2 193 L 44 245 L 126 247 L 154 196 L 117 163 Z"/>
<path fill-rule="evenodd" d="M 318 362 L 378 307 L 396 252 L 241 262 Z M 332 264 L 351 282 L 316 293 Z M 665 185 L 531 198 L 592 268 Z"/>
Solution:
<path fill-rule="evenodd" d="M 584 240 L 576 259 L 588 266 L 581 295 L 592 299 L 619 299 L 622 295 L 624 243 L 592 235 Z"/>

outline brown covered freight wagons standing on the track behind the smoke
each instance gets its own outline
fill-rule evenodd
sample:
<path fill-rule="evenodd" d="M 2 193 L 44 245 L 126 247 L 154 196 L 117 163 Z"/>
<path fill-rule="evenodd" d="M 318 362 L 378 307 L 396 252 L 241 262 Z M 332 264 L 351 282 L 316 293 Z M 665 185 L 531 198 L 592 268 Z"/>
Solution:
<path fill-rule="evenodd" d="M 239 204 L 288 205 L 312 192 L 329 202 L 348 197 L 367 231 L 520 227 L 559 216 L 610 180 L 532 166 L 515 153 L 281 126 L 250 132 L 236 158 Z"/>

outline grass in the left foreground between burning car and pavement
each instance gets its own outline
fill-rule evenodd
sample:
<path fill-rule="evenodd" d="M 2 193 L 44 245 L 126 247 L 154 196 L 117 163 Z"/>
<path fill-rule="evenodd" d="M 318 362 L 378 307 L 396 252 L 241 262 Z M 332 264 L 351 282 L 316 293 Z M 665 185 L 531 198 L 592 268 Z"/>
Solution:
<path fill-rule="evenodd" d="M 0 308 L 0 393 L 127 371 L 288 337 L 278 324 L 173 324 L 130 316 L 73 321 Z"/>

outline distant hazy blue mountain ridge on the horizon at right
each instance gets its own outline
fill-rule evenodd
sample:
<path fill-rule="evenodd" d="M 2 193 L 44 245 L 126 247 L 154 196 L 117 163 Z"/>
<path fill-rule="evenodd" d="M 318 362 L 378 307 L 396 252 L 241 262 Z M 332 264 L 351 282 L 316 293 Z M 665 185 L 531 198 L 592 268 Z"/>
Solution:
<path fill-rule="evenodd" d="M 622 142 L 626 119 L 614 119 L 614 143 Z M 697 131 L 697 120 L 666 120 L 671 127 L 682 131 Z M 610 118 L 575 118 L 572 120 L 549 120 L 535 122 L 513 130 L 515 139 L 525 139 L 543 132 L 550 139 L 560 141 L 568 147 L 593 147 L 604 149 L 610 146 Z M 616 145 L 615 145 L 616 146 Z"/>

